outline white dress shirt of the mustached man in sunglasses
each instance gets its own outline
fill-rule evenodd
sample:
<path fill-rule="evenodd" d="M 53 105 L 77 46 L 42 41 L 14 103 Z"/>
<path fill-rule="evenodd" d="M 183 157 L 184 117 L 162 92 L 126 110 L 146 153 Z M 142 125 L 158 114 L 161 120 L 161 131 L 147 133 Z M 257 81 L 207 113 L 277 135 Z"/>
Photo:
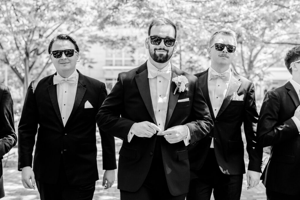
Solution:
<path fill-rule="evenodd" d="M 232 72 L 229 67 L 228 70 L 226 70 L 225 72 L 218 73 L 220 76 L 224 73 L 229 73 L 229 79 L 225 80 L 225 79 L 222 79 L 221 77 L 211 79 L 210 78 L 211 71 L 214 71 L 215 73 L 217 73 L 217 72 L 214 69 L 212 69 L 211 67 L 209 67 L 208 68 L 208 77 L 207 77 L 209 99 L 211 102 L 212 109 L 214 111 L 214 117 L 216 117 L 220 110 L 220 107 L 223 103 L 223 100 L 226 96 L 226 92 L 228 90 L 228 85 L 229 85 L 229 81 L 230 81 Z M 212 138 L 212 140 L 211 140 L 210 148 L 214 148 L 214 138 Z"/>

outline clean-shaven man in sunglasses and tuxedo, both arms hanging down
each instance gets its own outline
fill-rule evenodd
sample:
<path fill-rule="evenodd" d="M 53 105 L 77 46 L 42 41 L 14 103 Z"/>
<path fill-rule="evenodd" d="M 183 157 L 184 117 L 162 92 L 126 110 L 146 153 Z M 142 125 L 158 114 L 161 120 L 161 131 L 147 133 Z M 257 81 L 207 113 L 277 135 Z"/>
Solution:
<path fill-rule="evenodd" d="M 104 83 L 76 70 L 79 47 L 72 37 L 54 37 L 48 53 L 56 73 L 31 82 L 19 122 L 22 183 L 35 189 L 36 180 L 45 200 L 93 199 L 98 180 L 95 116 L 107 91 Z M 107 182 L 108 189 L 115 180 L 115 140 L 102 130 L 100 135 L 103 186 Z"/>

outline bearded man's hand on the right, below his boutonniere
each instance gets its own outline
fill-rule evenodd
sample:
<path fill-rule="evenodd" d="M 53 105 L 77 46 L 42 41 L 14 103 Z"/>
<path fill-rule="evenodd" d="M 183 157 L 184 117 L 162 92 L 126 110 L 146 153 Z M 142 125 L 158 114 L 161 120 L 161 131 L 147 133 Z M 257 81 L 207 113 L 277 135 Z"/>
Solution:
<path fill-rule="evenodd" d="M 184 125 L 168 128 L 161 133 L 164 138 L 170 143 L 177 143 L 187 137 L 187 127 Z"/>

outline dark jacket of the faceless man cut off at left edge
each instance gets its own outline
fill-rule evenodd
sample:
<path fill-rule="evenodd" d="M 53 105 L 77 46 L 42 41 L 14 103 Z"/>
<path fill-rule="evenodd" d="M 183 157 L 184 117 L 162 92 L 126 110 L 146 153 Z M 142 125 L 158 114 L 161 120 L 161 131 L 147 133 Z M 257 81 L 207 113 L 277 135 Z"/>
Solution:
<path fill-rule="evenodd" d="M 13 120 L 13 100 L 11 99 L 9 89 L 0 85 L 0 198 L 4 197 L 3 179 L 2 179 L 2 158 L 16 145 L 17 136 Z"/>

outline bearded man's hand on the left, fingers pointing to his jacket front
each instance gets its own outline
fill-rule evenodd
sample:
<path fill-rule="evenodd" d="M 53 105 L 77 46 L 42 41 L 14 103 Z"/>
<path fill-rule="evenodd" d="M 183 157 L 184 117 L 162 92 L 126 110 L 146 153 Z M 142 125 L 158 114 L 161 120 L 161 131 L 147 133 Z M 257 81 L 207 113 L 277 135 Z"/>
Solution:
<path fill-rule="evenodd" d="M 156 133 L 156 131 L 161 131 L 161 129 L 149 121 L 135 123 L 131 127 L 131 133 L 138 137 L 151 138 Z"/>

